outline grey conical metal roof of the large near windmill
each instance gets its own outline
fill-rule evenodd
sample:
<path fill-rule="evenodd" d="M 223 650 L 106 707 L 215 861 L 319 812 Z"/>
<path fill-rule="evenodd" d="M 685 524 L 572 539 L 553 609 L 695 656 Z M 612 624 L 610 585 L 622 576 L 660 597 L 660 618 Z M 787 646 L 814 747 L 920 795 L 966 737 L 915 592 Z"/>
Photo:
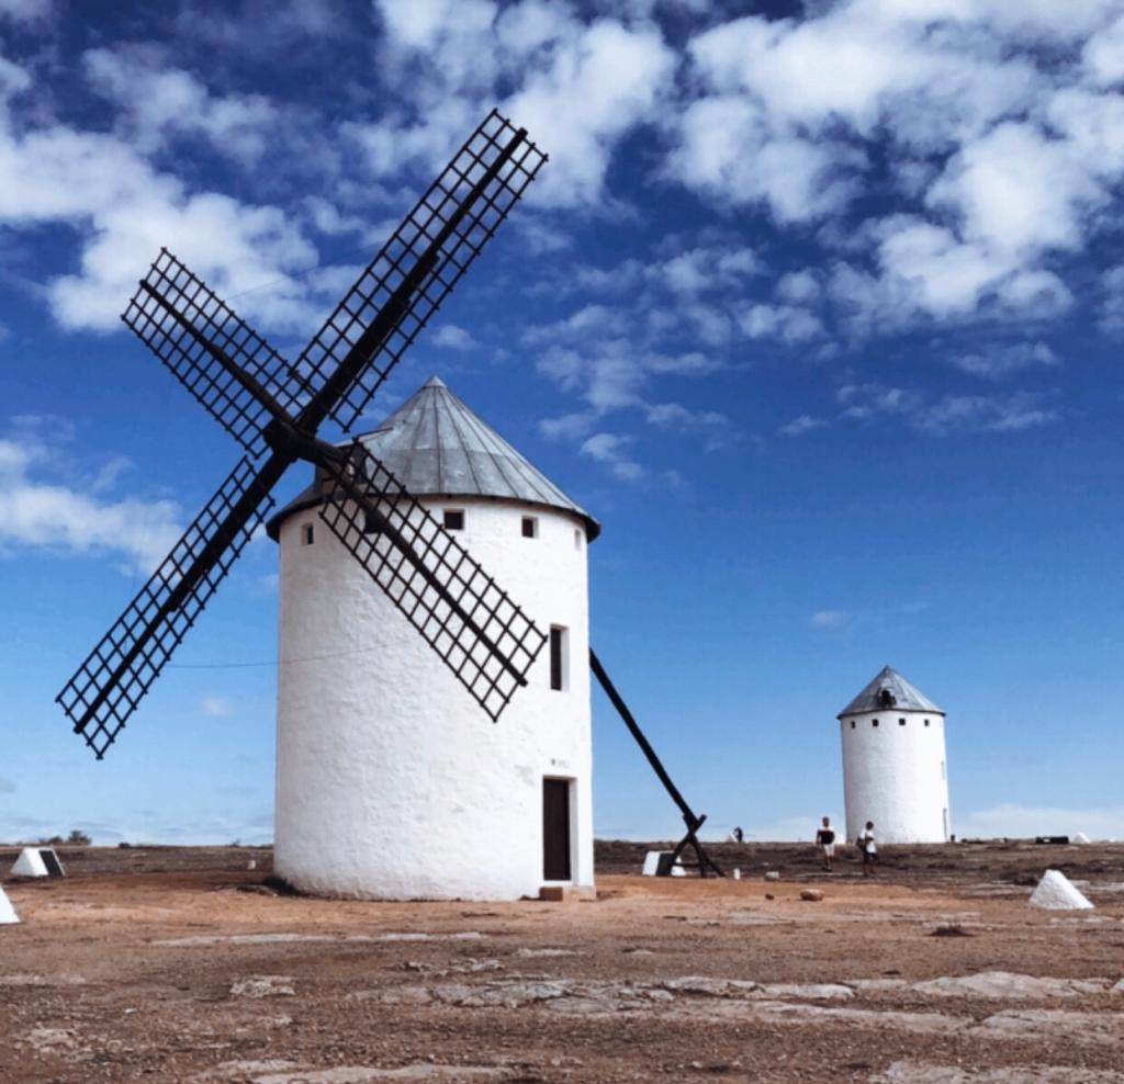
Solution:
<path fill-rule="evenodd" d="M 537 467 L 430 376 L 363 446 L 415 497 L 484 497 L 572 512 L 586 521 L 589 540 L 601 525 Z M 266 527 L 274 540 L 285 517 L 320 503 L 317 483 L 298 494 Z"/>

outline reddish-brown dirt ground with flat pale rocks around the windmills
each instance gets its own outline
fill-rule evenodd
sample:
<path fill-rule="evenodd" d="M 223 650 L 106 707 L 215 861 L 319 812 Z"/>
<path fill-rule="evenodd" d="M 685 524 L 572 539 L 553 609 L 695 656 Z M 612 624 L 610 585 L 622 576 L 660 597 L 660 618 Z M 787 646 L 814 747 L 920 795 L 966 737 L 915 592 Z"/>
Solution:
<path fill-rule="evenodd" d="M 587 903 L 315 900 L 264 849 L 63 849 L 65 880 L 0 877 L 0 1081 L 1124 1084 L 1124 845 L 887 848 L 871 881 L 781 845 L 645 878 L 645 849 L 599 844 Z M 1028 908 L 1048 867 L 1096 910 Z"/>

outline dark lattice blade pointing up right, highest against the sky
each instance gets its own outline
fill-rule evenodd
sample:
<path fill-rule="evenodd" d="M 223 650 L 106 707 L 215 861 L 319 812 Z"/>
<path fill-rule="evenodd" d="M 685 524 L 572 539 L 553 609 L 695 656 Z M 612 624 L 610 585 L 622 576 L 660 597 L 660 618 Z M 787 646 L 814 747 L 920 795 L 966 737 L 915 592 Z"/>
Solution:
<path fill-rule="evenodd" d="M 545 161 L 524 129 L 488 115 L 294 363 L 314 395 L 302 425 L 351 429 Z"/>

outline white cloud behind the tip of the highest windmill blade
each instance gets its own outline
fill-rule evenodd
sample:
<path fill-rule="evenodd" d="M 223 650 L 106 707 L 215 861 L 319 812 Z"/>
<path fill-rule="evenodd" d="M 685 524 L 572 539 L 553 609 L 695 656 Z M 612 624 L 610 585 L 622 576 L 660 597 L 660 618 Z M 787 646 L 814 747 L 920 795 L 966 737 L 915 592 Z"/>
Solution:
<path fill-rule="evenodd" d="M 502 12 L 490 0 L 379 0 L 377 7 L 389 70 L 410 72 L 422 88 L 419 119 L 384 115 L 344 126 L 380 177 L 410 163 L 444 164 L 463 133 L 502 99 L 501 111 L 535 133 L 551 157 L 528 201 L 601 204 L 617 143 L 653 117 L 674 70 L 652 25 L 608 18 L 586 25 L 571 9 L 541 0 Z M 410 65 L 422 66 L 420 80 Z"/>

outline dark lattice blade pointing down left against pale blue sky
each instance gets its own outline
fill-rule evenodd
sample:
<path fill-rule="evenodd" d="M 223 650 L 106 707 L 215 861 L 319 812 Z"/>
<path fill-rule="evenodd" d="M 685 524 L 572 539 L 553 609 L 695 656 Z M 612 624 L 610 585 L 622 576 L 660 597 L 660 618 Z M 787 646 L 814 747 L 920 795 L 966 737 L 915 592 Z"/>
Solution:
<path fill-rule="evenodd" d="M 238 462 L 55 698 L 99 760 L 264 521 L 289 462 Z"/>

